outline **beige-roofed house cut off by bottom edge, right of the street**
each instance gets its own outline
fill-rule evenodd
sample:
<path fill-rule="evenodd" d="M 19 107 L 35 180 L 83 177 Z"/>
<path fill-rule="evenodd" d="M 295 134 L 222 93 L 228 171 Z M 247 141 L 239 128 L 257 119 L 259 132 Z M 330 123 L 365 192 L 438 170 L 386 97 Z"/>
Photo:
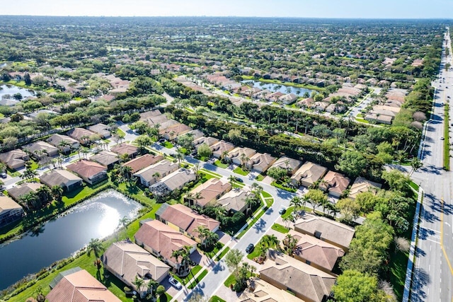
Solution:
<path fill-rule="evenodd" d="M 303 302 L 301 299 L 259 278 L 248 280 L 248 288 L 236 302 Z"/>

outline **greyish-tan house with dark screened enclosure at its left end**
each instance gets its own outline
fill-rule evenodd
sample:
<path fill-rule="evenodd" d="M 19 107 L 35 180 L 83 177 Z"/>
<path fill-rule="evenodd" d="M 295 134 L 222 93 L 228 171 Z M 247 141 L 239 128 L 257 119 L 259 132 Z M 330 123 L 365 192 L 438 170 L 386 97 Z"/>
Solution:
<path fill-rule="evenodd" d="M 197 176 L 192 170 L 180 169 L 161 178 L 154 185 L 149 186 L 149 190 L 155 194 L 170 194 L 175 190 L 181 190 L 185 184 L 196 180 L 196 178 Z"/>

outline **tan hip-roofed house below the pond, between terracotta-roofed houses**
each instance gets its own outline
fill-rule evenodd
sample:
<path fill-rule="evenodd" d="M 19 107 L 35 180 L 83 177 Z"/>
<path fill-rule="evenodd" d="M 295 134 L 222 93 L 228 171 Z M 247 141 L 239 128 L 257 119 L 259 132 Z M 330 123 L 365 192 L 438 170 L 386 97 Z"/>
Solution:
<path fill-rule="evenodd" d="M 137 291 L 143 298 L 146 296 L 150 279 L 159 283 L 168 276 L 170 267 L 128 240 L 112 243 L 101 256 L 104 268 Z M 132 282 L 136 277 L 143 279 L 144 286 L 137 289 Z"/>

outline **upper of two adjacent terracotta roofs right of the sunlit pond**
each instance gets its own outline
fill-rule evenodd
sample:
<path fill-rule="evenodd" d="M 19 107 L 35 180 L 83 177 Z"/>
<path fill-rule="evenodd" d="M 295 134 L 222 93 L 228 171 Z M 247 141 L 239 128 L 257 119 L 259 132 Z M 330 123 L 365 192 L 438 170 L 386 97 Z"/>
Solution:
<path fill-rule="evenodd" d="M 210 231 L 214 231 L 220 226 L 219 221 L 206 215 L 200 215 L 183 204 L 169 205 L 161 214 L 161 218 L 182 228 L 193 236 L 198 235 L 194 232 L 197 226 L 206 226 Z"/>

